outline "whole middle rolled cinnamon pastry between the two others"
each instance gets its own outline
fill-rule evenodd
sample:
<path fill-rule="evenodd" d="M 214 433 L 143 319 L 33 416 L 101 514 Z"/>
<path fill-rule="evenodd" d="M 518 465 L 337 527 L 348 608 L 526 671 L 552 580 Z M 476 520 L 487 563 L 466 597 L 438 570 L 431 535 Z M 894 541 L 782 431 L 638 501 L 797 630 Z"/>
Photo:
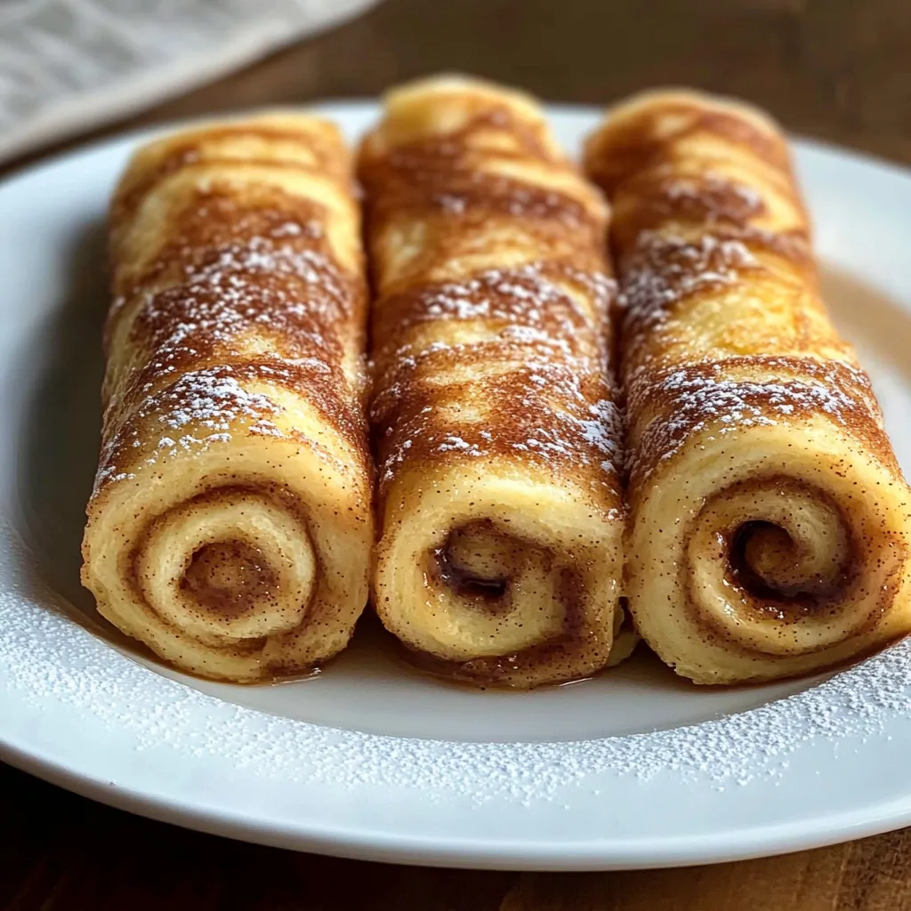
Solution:
<path fill-rule="evenodd" d="M 379 616 L 464 681 L 589 675 L 622 615 L 606 207 L 531 98 L 455 77 L 389 94 L 358 170 Z"/>

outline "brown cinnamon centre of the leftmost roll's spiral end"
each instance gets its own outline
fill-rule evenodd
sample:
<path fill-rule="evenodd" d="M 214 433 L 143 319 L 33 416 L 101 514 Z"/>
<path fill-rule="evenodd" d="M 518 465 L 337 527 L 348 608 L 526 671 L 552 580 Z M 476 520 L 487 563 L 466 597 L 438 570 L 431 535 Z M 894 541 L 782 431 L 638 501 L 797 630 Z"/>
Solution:
<path fill-rule="evenodd" d="M 278 579 L 260 548 L 243 541 L 201 547 L 189 562 L 180 588 L 201 607 L 240 617 L 253 605 L 273 598 Z"/>

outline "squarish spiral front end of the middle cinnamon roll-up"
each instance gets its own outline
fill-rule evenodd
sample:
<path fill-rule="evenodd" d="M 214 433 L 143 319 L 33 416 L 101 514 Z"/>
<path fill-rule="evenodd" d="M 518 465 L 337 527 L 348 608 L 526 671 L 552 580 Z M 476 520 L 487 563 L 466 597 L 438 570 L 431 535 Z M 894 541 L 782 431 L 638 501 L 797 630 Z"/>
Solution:
<path fill-rule="evenodd" d="M 386 496 L 375 598 L 440 670 L 528 686 L 608 660 L 620 525 L 572 486 L 518 466 L 404 473 Z"/>

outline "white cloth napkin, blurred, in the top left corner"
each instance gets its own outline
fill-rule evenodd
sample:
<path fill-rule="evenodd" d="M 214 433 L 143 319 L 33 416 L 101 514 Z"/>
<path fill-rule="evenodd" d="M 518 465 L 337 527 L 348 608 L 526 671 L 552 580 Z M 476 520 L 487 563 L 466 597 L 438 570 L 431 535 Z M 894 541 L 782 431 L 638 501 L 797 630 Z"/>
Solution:
<path fill-rule="evenodd" d="M 241 67 L 376 0 L 0 0 L 0 161 Z"/>

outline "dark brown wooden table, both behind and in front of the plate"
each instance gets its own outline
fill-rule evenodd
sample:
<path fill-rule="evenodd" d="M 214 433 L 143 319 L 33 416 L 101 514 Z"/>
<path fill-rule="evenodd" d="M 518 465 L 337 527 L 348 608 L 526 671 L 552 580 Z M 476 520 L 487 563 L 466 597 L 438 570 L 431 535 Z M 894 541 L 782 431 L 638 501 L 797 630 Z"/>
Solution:
<path fill-rule="evenodd" d="M 369 96 L 459 69 L 603 104 L 689 84 L 911 163 L 909 0 L 387 0 L 134 118 Z M 125 125 L 118 125 L 121 128 Z M 0 769 L 0 905 L 15 911 L 903 911 L 911 830 L 688 870 L 515 875 L 295 855 L 150 823 Z"/>

